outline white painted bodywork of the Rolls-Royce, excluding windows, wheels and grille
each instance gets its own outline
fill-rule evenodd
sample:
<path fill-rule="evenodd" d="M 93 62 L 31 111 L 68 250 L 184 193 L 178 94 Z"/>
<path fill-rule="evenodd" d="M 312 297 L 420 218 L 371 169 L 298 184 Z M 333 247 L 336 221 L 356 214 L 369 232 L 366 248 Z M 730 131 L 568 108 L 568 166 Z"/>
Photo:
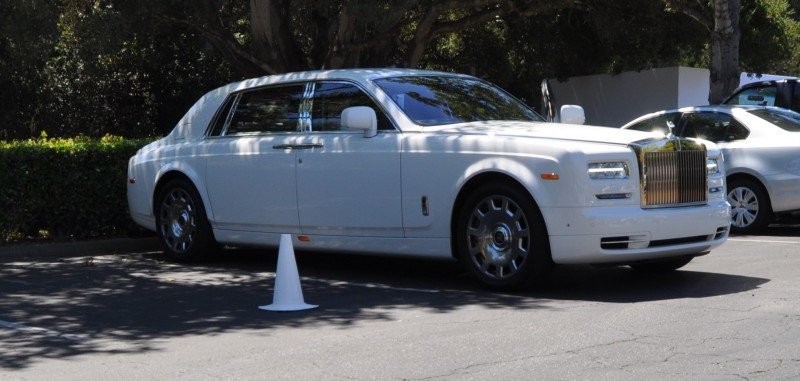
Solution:
<path fill-rule="evenodd" d="M 129 175 L 136 179 L 128 184 L 131 215 L 155 230 L 155 187 L 173 171 L 196 185 L 215 238 L 223 244 L 275 247 L 281 233 L 291 233 L 299 249 L 452 258 L 451 222 L 459 192 L 471 180 L 493 174 L 519 183 L 538 205 L 556 263 L 699 254 L 727 239 L 727 233 L 715 237 L 730 218 L 724 192 L 710 194 L 703 206 L 642 209 L 637 158 L 627 145 L 650 134 L 538 122 L 420 126 L 372 82 L 399 75 L 454 74 L 401 69 L 292 73 L 209 92 L 168 136 L 131 158 Z M 372 138 L 361 132 L 205 135 L 231 92 L 320 79 L 356 83 L 379 103 L 397 131 L 379 131 Z M 316 146 L 273 148 L 280 144 Z M 720 155 L 715 145 L 707 144 L 709 157 Z M 587 163 L 601 161 L 626 162 L 630 177 L 590 180 Z M 544 180 L 543 174 L 557 174 L 558 180 Z M 709 181 L 724 186 L 722 179 Z M 630 197 L 595 196 L 602 193 Z M 423 197 L 429 202 L 427 215 Z M 709 239 L 630 250 L 600 248 L 601 237 L 620 235 Z"/>

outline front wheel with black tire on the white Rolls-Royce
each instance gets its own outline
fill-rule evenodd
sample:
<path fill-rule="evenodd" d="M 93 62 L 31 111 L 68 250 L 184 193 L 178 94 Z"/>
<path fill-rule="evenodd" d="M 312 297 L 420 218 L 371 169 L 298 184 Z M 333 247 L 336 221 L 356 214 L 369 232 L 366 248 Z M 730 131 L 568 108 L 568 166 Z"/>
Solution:
<path fill-rule="evenodd" d="M 553 267 L 544 220 L 526 191 L 483 185 L 467 197 L 457 218 L 457 257 L 484 286 L 528 288 Z"/>

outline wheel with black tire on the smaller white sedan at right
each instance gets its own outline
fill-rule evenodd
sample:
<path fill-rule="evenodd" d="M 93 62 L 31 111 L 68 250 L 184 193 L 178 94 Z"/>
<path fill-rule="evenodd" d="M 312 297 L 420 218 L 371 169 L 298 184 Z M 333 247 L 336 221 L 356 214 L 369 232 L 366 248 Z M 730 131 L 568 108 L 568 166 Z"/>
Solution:
<path fill-rule="evenodd" d="M 728 182 L 731 204 L 731 233 L 753 234 L 763 230 L 772 220 L 772 204 L 766 189 L 752 179 Z"/>

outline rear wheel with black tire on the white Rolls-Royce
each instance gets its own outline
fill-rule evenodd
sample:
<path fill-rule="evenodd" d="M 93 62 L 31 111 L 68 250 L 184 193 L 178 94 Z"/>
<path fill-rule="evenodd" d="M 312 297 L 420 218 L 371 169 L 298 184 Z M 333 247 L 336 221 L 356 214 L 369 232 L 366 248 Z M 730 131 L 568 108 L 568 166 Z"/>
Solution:
<path fill-rule="evenodd" d="M 167 257 L 193 262 L 217 252 L 203 201 L 190 181 L 170 180 L 159 191 L 156 202 L 156 229 Z"/>

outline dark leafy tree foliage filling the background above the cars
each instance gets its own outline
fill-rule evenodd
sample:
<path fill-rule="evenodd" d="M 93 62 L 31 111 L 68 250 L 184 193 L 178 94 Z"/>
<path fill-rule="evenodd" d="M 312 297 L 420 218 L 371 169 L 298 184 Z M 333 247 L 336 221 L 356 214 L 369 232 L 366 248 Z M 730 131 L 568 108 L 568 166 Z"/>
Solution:
<path fill-rule="evenodd" d="M 667 3 L 711 10 L 706 0 L 0 2 L 0 140 L 163 135 L 206 91 L 287 70 L 465 72 L 535 103 L 544 78 L 707 66 L 708 30 Z M 798 4 L 742 0 L 743 70 L 800 72 Z"/>

